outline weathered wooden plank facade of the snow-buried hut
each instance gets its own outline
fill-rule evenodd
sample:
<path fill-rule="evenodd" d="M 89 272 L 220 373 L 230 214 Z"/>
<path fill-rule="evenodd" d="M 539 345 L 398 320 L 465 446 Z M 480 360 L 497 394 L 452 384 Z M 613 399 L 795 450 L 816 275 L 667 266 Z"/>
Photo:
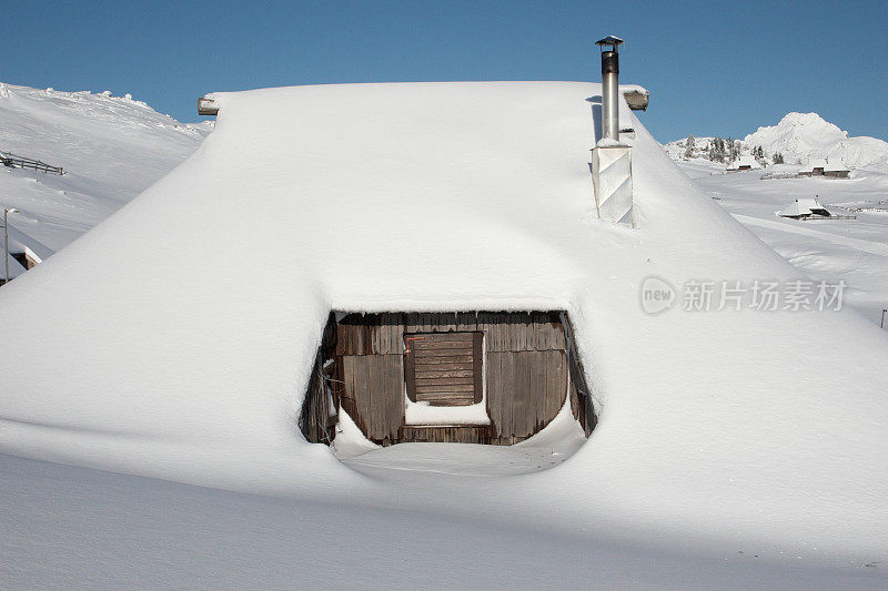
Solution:
<path fill-rule="evenodd" d="M 512 445 L 569 397 L 586 435 L 595 412 L 562 312 L 331 314 L 300 427 L 329 444 L 341 408 L 372 441 Z M 481 405 L 490 425 L 406 424 L 406 405 Z"/>

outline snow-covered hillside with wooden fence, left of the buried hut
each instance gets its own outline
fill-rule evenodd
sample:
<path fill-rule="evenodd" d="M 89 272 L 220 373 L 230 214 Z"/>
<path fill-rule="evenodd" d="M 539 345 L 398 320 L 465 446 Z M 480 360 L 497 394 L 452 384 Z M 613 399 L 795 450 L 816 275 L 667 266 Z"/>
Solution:
<path fill-rule="evenodd" d="M 0 152 L 65 170 L 0 166 L 0 205 L 20 211 L 11 227 L 58 251 L 170 172 L 211 129 L 129 95 L 0 83 Z"/>

